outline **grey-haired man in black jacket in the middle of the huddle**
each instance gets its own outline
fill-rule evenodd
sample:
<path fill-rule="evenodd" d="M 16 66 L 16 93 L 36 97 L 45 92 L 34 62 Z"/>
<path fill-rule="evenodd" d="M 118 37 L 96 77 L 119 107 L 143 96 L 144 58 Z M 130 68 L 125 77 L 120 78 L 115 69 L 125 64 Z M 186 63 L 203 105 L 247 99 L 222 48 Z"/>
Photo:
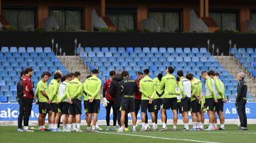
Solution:
<path fill-rule="evenodd" d="M 121 126 L 121 91 L 120 91 L 120 82 L 123 80 L 122 78 L 122 70 L 117 69 L 116 70 L 116 76 L 114 76 L 113 81 L 111 81 L 110 84 L 110 96 L 114 98 L 114 110 L 116 110 L 117 113 L 117 122 L 119 127 Z M 128 114 L 125 115 L 125 127 L 128 127 Z"/>

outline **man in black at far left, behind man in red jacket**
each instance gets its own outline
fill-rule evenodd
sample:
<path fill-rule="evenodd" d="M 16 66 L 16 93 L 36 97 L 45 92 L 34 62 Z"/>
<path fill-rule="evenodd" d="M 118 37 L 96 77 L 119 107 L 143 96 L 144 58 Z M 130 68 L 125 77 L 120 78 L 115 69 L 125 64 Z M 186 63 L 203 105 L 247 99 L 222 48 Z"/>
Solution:
<path fill-rule="evenodd" d="M 18 103 L 19 103 L 19 117 L 18 117 L 18 132 L 23 132 L 23 129 L 22 129 L 22 120 L 23 120 L 23 116 L 24 116 L 24 101 L 23 101 L 23 87 L 22 87 L 22 80 L 23 78 L 25 77 L 26 75 L 26 72 L 25 70 L 22 70 L 20 72 L 20 79 L 19 81 L 17 82 L 17 100 L 18 100 Z"/>

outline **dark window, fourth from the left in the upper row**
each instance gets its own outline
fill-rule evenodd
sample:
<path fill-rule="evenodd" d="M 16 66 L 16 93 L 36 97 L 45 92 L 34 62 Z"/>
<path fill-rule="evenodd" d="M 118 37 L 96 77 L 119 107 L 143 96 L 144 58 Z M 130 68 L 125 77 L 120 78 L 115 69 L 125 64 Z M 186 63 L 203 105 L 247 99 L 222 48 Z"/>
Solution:
<path fill-rule="evenodd" d="M 181 9 L 149 8 L 148 17 L 160 26 L 160 32 L 182 31 Z"/>

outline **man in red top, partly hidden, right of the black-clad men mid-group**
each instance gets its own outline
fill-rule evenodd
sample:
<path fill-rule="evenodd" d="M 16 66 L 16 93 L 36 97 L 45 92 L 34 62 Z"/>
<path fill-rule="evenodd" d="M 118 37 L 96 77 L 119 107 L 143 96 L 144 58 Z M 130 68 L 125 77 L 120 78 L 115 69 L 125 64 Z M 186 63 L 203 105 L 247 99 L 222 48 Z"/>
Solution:
<path fill-rule="evenodd" d="M 136 79 L 136 82 L 139 87 L 139 92 L 134 93 L 134 102 L 135 102 L 135 115 L 136 115 L 136 121 L 137 121 L 137 115 L 140 110 L 140 105 L 142 101 L 142 93 L 140 93 L 140 80 L 143 79 L 143 73 L 142 71 L 138 72 L 138 78 Z M 142 115 L 142 114 L 140 114 Z M 148 124 L 148 115 L 146 114 L 145 123 Z"/>

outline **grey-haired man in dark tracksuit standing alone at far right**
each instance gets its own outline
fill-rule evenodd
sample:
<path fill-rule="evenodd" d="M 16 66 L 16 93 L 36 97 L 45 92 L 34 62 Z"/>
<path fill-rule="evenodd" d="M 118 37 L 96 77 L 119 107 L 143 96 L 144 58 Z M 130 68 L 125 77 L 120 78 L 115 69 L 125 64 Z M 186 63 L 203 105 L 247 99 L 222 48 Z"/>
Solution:
<path fill-rule="evenodd" d="M 236 108 L 241 123 L 241 127 L 238 130 L 247 130 L 247 117 L 245 112 L 247 85 L 244 80 L 245 73 L 239 73 L 237 79 L 239 83 L 237 85 Z"/>

